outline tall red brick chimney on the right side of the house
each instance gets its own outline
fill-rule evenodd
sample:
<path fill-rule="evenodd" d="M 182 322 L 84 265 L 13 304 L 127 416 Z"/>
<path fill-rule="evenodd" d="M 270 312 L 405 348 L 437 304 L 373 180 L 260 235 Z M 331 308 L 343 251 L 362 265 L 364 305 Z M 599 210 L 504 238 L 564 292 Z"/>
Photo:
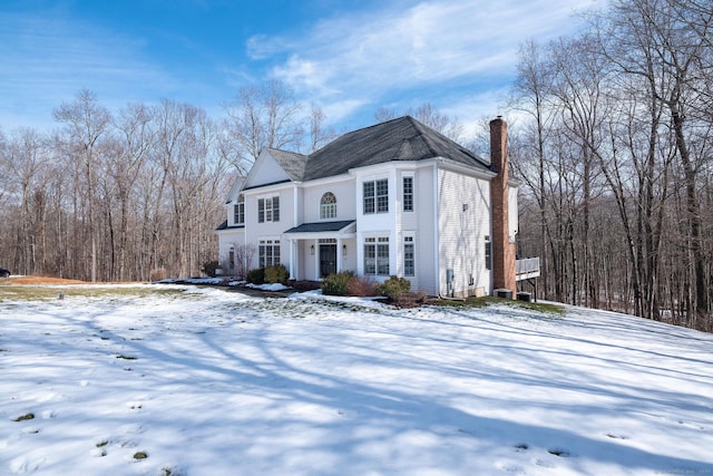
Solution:
<path fill-rule="evenodd" d="M 498 116 L 490 122 L 490 166 L 497 176 L 490 181 L 492 207 L 492 288 L 517 293 L 515 243 L 510 243 L 508 217 L 508 125 Z"/>

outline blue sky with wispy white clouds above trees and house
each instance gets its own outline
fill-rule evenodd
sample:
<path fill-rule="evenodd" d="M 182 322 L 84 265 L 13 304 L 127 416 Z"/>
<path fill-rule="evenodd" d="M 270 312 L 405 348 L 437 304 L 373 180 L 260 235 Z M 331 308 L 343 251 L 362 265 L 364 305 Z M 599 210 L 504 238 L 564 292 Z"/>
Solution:
<path fill-rule="evenodd" d="M 0 127 L 50 129 L 82 88 L 113 111 L 186 101 L 221 117 L 276 78 L 338 129 L 431 103 L 465 125 L 501 113 L 518 46 L 603 0 L 0 0 Z"/>

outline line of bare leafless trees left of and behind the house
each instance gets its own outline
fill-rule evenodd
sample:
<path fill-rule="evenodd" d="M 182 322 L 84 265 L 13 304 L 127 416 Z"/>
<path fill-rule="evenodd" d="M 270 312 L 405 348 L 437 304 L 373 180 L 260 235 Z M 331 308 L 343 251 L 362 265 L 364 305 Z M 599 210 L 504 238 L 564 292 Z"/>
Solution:
<path fill-rule="evenodd" d="M 334 135 L 279 81 L 223 106 L 218 120 L 168 99 L 113 114 L 85 89 L 52 111 L 51 133 L 0 129 L 2 266 L 92 282 L 198 275 L 235 175 L 264 147 Z"/>

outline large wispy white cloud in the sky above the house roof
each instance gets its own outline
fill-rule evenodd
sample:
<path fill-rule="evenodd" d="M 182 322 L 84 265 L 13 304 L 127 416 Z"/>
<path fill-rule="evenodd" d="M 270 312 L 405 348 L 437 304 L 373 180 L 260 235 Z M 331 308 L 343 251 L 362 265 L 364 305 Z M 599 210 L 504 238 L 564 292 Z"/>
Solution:
<path fill-rule="evenodd" d="M 421 2 L 350 12 L 293 38 L 261 37 L 260 51 L 277 58 L 273 76 L 313 100 L 351 98 L 375 108 L 389 95 L 423 88 L 432 95 L 471 78 L 502 88 L 511 81 L 519 43 L 572 32 L 579 25 L 573 11 L 592 6 L 593 0 Z M 252 42 L 248 49 L 255 49 Z"/>

